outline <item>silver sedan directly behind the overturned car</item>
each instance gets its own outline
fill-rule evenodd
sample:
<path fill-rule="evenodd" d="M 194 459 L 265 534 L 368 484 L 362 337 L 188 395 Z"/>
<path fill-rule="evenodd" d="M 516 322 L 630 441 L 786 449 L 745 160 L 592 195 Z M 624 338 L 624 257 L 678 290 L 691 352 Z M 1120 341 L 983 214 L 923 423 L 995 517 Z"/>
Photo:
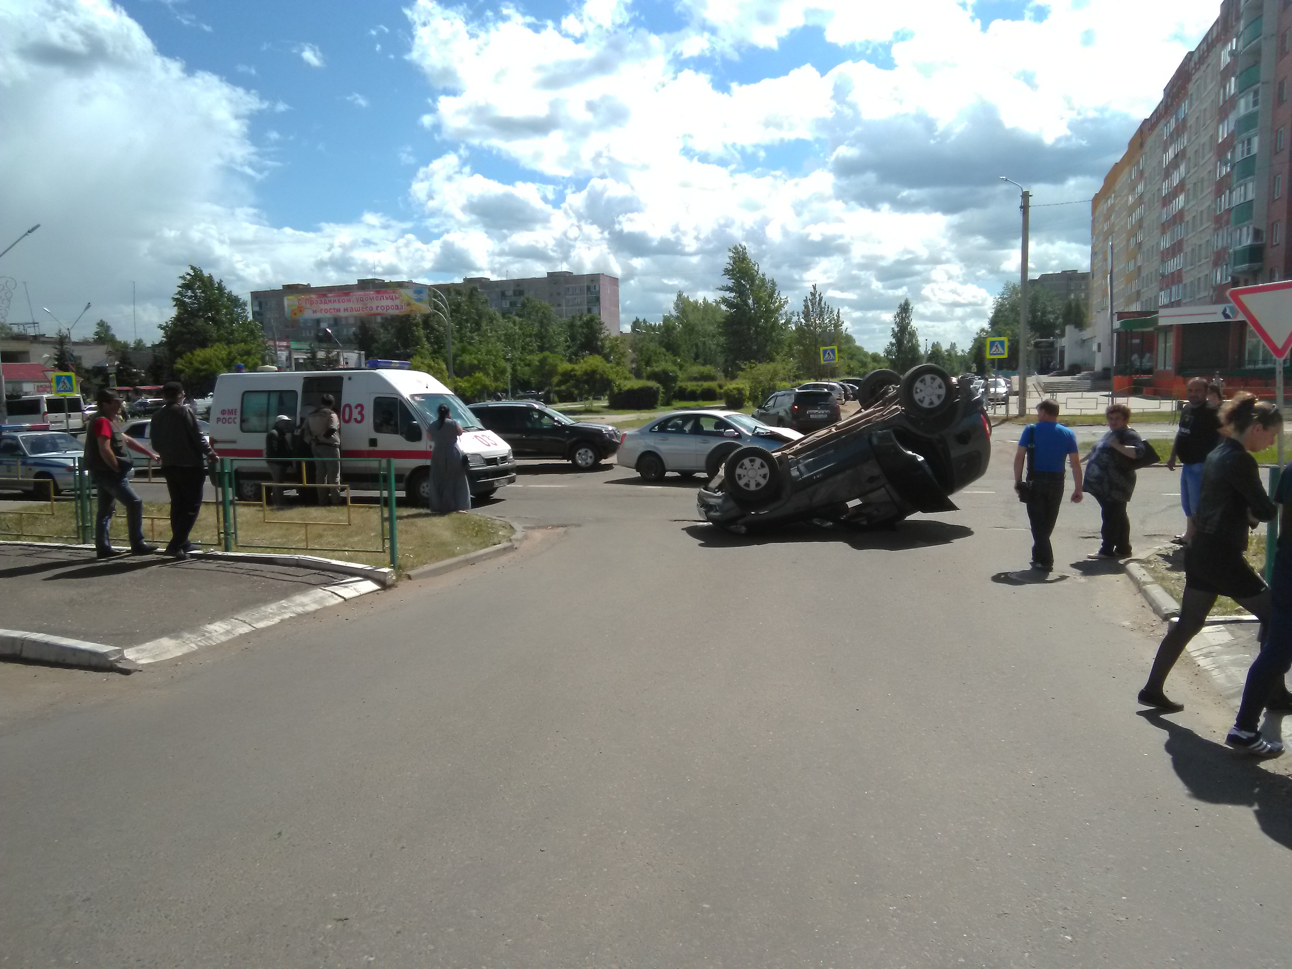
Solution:
<path fill-rule="evenodd" d="M 801 437 L 797 430 L 769 428 L 738 411 L 677 411 L 624 433 L 619 464 L 634 468 L 647 481 L 659 481 L 668 472 L 683 478 L 704 472 L 712 478 L 733 451 L 775 451 Z"/>

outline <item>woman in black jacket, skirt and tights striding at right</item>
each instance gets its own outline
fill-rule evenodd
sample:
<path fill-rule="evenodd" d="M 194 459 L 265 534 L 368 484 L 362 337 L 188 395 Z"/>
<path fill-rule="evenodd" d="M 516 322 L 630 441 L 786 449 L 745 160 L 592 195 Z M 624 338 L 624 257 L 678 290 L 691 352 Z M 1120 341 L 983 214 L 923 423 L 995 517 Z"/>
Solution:
<path fill-rule="evenodd" d="M 1221 410 L 1221 426 L 1227 435 L 1221 437 L 1203 463 L 1202 495 L 1194 509 L 1194 537 L 1185 547 L 1180 619 L 1158 646 L 1149 681 L 1140 691 L 1140 703 L 1172 713 L 1185 707 L 1167 696 L 1167 676 L 1189 641 L 1203 628 L 1217 596 L 1229 596 L 1260 620 L 1257 638 L 1261 643 L 1269 638 L 1270 590 L 1248 565 L 1244 552 L 1253 522 L 1267 522 L 1278 510 L 1265 494 L 1252 452 L 1262 451 L 1274 442 L 1283 426 L 1283 415 L 1267 401 L 1257 401 L 1240 391 Z M 1260 677 L 1267 677 L 1269 669 L 1276 665 L 1280 649 L 1279 643 L 1274 645 L 1274 652 L 1260 668 Z M 1252 698 L 1244 694 L 1249 699 L 1248 711 L 1242 726 L 1235 726 L 1225 743 L 1256 755 L 1276 753 L 1282 745 L 1251 730 L 1255 717 L 1260 716 L 1260 709 L 1255 714 L 1251 712 L 1251 704 L 1260 699 L 1262 705 L 1273 702 L 1292 709 L 1292 696 L 1287 695 L 1286 687 L 1266 690 L 1264 698 L 1257 696 L 1260 685 L 1251 682 L 1251 674 L 1248 680 L 1253 691 Z"/>

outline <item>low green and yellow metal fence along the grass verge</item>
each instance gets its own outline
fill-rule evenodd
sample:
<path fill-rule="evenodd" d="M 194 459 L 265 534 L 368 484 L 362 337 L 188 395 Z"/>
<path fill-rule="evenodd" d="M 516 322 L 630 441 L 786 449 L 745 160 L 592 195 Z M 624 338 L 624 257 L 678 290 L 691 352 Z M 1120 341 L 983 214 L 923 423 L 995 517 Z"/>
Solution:
<path fill-rule="evenodd" d="M 31 492 L 31 500 L 0 506 L 0 539 L 74 544 L 94 541 L 98 488 L 83 461 L 56 477 L 35 477 L 48 461 L 13 459 L 0 468 L 0 491 Z M 327 465 L 331 465 L 328 468 Z M 399 531 L 395 470 L 391 459 L 301 457 L 292 474 L 269 477 L 260 459 L 222 457 L 209 478 L 216 487 L 214 539 L 196 544 L 225 552 L 262 549 L 313 553 L 381 554 L 398 567 Z M 152 482 L 152 468 L 136 469 L 134 483 Z M 329 472 L 333 474 L 329 475 Z M 340 472 L 340 474 L 336 474 Z M 354 501 L 354 488 L 377 494 L 376 504 Z M 239 499 L 256 494 L 257 500 Z M 295 501 L 286 500 L 295 492 Z M 70 509 L 68 509 L 70 506 Z M 146 536 L 159 540 L 158 522 L 169 528 L 169 514 L 149 514 Z M 208 523 L 209 528 L 209 523 Z M 366 540 L 364 540 L 366 539 Z"/>

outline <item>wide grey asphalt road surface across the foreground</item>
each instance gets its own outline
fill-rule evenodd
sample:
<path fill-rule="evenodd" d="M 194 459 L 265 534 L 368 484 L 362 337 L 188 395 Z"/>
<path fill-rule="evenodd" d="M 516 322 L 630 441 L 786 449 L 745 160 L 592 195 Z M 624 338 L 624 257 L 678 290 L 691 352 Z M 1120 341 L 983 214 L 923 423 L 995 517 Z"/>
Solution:
<path fill-rule="evenodd" d="M 1136 714 L 1160 627 L 1093 503 L 1009 576 L 1010 450 L 957 513 L 743 539 L 694 483 L 528 468 L 513 557 L 0 669 L 67 677 L 0 726 L 0 965 L 1287 965 L 1286 769 L 1189 668 Z"/>

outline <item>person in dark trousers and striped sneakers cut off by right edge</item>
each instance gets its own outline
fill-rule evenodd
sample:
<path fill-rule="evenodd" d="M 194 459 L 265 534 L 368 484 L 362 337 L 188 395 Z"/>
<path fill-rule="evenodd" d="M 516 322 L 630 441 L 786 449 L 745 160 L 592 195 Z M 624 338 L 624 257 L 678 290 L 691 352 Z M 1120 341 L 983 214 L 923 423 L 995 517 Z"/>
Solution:
<path fill-rule="evenodd" d="M 1257 743 L 1261 711 L 1292 712 L 1287 672 L 1292 668 L 1292 464 L 1283 469 L 1274 501 L 1282 505 L 1279 543 L 1270 581 L 1270 621 L 1261 650 L 1247 671 L 1238 717 L 1226 743 L 1261 756 L 1282 753 L 1282 745 Z"/>

